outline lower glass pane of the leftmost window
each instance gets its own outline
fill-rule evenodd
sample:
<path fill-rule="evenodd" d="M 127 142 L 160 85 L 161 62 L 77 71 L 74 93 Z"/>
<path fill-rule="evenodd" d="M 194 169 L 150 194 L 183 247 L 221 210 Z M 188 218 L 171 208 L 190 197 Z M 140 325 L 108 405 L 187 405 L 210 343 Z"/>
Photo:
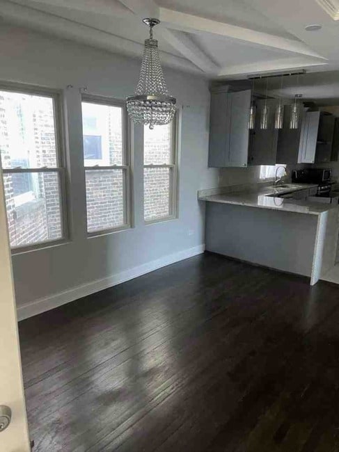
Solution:
<path fill-rule="evenodd" d="M 4 174 L 3 182 L 12 247 L 63 237 L 56 172 Z"/>

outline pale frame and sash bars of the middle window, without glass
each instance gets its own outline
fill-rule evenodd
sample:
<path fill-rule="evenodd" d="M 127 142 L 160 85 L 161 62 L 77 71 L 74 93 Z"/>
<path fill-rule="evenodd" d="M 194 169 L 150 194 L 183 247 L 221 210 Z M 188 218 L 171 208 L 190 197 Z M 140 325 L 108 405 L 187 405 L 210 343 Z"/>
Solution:
<path fill-rule="evenodd" d="M 84 164 L 84 176 L 85 176 L 85 197 L 87 198 L 86 192 L 86 171 L 100 171 L 100 170 L 123 170 L 125 171 L 124 177 L 124 221 L 125 224 L 118 227 L 109 227 L 107 229 L 102 229 L 98 231 L 88 232 L 88 212 L 87 212 L 87 202 L 86 202 L 86 234 L 87 238 L 91 239 L 93 237 L 113 234 L 115 232 L 125 231 L 126 229 L 131 229 L 132 225 L 132 168 L 131 168 L 131 136 L 130 136 L 130 125 L 127 113 L 127 105 L 125 100 L 116 99 L 113 97 L 98 96 L 88 93 L 81 94 L 81 127 L 82 127 L 82 103 L 88 102 L 90 104 L 100 104 L 106 106 L 116 106 L 122 108 L 122 127 L 123 127 L 123 165 L 110 165 L 110 166 L 85 166 Z M 84 131 L 82 132 L 81 138 L 84 140 Z M 84 156 L 84 143 L 83 143 L 83 156 Z"/>

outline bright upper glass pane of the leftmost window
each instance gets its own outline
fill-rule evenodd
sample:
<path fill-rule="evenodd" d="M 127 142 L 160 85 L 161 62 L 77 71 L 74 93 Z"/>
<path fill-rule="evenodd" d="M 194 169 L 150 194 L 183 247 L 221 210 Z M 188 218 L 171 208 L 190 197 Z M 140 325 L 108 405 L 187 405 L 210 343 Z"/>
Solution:
<path fill-rule="evenodd" d="M 0 91 L 0 151 L 3 168 L 57 166 L 52 97 Z"/>

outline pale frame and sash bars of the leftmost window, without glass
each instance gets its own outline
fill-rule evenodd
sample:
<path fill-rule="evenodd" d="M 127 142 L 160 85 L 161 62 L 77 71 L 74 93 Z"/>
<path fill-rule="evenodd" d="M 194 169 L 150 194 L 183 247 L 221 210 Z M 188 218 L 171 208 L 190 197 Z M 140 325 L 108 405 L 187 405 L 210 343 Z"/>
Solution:
<path fill-rule="evenodd" d="M 0 91 L 20 92 L 26 95 L 37 95 L 39 97 L 49 97 L 53 102 L 54 110 L 54 131 L 56 143 L 56 167 L 40 167 L 40 168 L 2 168 L 0 158 L 0 173 L 1 177 L 6 174 L 20 174 L 20 173 L 43 173 L 56 172 L 59 180 L 59 199 L 61 204 L 61 232 L 60 239 L 45 240 L 28 245 L 10 246 L 12 255 L 21 254 L 24 252 L 31 252 L 40 250 L 42 248 L 49 248 L 56 245 L 63 245 L 70 240 L 69 229 L 69 205 L 68 205 L 68 168 L 66 166 L 65 156 L 65 115 L 63 106 L 63 91 L 53 88 L 46 88 L 33 85 L 25 85 L 22 83 L 10 83 L 0 81 Z M 7 209 L 6 209 L 7 214 Z"/>

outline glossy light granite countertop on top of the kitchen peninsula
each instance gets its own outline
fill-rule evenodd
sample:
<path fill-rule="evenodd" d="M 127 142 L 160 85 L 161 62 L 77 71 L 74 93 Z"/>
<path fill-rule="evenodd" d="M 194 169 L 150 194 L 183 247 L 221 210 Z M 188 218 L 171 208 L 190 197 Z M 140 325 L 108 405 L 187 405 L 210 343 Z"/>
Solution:
<path fill-rule="evenodd" d="M 310 215 L 320 215 L 331 209 L 338 209 L 338 204 L 323 204 L 294 200 L 290 198 L 274 197 L 275 193 L 292 193 L 302 189 L 309 189 L 317 185 L 293 184 L 292 188 L 274 188 L 265 186 L 258 191 L 237 191 L 235 193 L 223 193 L 219 195 L 207 195 L 198 197 L 201 201 L 220 202 L 222 204 L 235 204 L 239 206 L 258 207 L 260 209 L 273 209 L 280 211 L 309 213 Z"/>

